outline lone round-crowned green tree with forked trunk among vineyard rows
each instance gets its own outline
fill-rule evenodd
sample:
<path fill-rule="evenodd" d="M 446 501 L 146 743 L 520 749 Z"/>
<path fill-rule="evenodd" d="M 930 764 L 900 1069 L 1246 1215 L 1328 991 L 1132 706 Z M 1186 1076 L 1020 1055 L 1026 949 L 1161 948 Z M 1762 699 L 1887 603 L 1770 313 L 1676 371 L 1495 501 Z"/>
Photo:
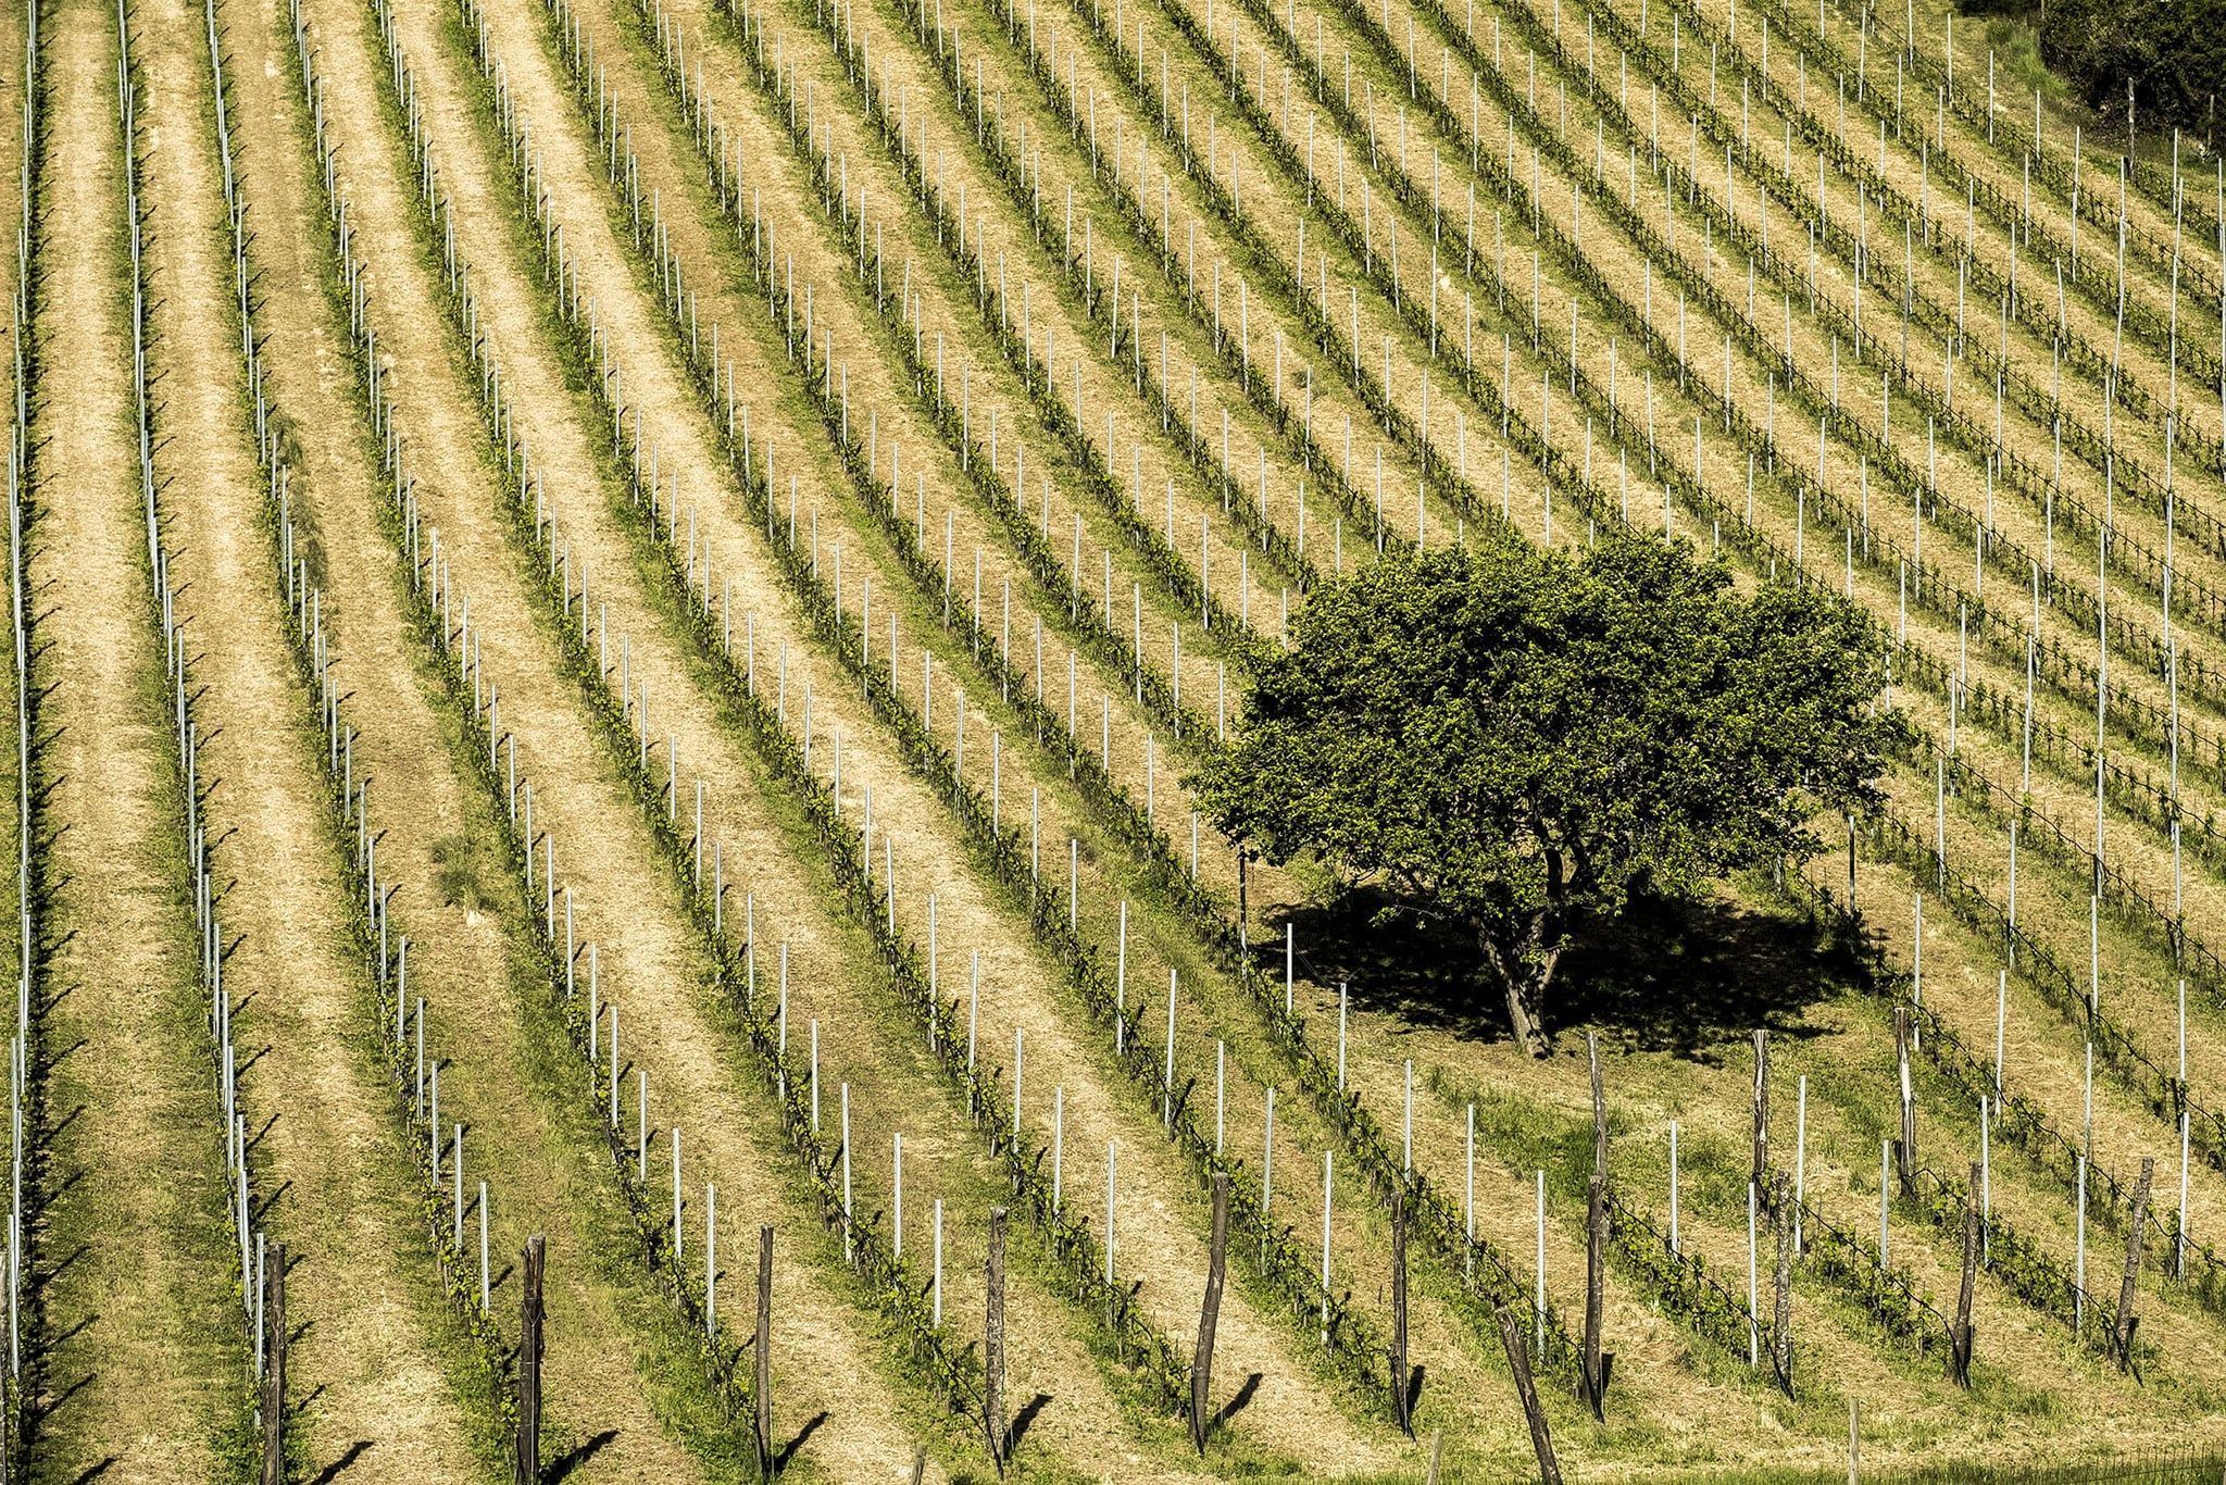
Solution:
<path fill-rule="evenodd" d="M 1814 850 L 1819 806 L 1877 799 L 1881 684 L 1852 606 L 1736 592 L 1683 545 L 1445 548 L 1322 588 L 1198 786 L 1240 848 L 1471 933 L 1545 1055 L 1578 917 Z"/>

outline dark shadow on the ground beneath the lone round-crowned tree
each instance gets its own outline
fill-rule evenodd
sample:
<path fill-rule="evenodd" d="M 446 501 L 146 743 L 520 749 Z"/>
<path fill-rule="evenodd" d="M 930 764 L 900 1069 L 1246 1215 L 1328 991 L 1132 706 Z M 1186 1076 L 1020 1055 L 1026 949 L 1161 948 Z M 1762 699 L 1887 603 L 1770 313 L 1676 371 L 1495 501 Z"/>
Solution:
<path fill-rule="evenodd" d="M 1382 888 L 1356 886 L 1271 928 L 1296 928 L 1302 973 L 1349 984 L 1360 1006 L 1478 1042 L 1507 1040 L 1507 997 L 1474 940 L 1391 906 Z M 1814 1004 L 1868 986 L 1870 975 L 1861 940 L 1799 913 L 1645 895 L 1578 924 L 1545 1020 L 1552 1033 L 1598 1026 L 1629 1051 L 1714 1062 L 1756 1029 L 1810 1033 Z"/>

